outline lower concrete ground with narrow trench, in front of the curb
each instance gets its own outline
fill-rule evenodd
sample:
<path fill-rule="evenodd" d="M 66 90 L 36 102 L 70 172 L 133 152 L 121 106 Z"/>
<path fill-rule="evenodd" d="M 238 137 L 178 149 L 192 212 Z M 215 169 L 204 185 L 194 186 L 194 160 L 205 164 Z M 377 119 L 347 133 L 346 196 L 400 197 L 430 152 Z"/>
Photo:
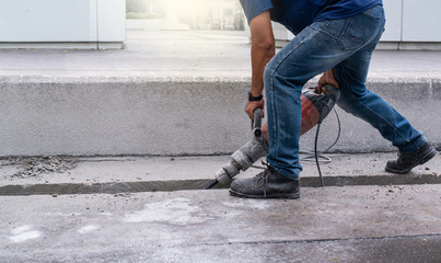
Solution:
<path fill-rule="evenodd" d="M 332 155 L 324 188 L 303 163 L 297 201 L 201 190 L 227 156 L 2 159 L 0 261 L 439 262 L 441 157 L 394 157 Z"/>

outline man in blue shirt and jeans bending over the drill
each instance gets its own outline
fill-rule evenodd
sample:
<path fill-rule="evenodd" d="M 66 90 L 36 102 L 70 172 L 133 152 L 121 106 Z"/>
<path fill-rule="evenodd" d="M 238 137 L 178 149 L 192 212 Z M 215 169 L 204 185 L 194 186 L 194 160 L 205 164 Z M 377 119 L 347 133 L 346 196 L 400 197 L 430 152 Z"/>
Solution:
<path fill-rule="evenodd" d="M 255 178 L 233 181 L 240 197 L 298 198 L 300 95 L 316 75 L 340 89 L 337 104 L 368 122 L 398 148 L 386 171 L 407 173 L 436 156 L 425 136 L 365 85 L 372 52 L 384 28 L 382 0 L 240 0 L 252 36 L 252 87 L 245 112 L 264 108 L 265 87 L 269 149 L 267 168 Z M 275 54 L 270 21 L 295 37 Z M 323 90 L 323 92 L 326 92 Z"/>

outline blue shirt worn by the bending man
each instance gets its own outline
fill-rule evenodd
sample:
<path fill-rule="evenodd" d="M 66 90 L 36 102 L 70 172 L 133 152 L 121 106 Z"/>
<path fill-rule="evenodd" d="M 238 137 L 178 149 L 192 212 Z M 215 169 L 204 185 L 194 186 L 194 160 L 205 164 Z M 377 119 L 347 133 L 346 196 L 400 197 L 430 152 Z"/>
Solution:
<path fill-rule="evenodd" d="M 345 19 L 359 14 L 382 0 L 241 0 L 248 23 L 259 13 L 270 10 L 271 20 L 293 34 L 313 22 Z"/>

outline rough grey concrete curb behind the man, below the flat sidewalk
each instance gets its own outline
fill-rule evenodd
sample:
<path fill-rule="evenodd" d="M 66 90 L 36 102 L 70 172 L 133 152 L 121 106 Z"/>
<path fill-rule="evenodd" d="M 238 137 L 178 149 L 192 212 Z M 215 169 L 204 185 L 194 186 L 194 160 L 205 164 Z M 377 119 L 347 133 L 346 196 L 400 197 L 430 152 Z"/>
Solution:
<path fill-rule="evenodd" d="M 2 71 L 0 156 L 230 153 L 249 137 L 247 72 Z M 312 81 L 312 84 L 315 80 Z M 373 73 L 370 89 L 441 145 L 441 73 Z M 378 132 L 340 112 L 334 151 L 390 151 Z M 330 145 L 336 119 L 324 123 Z M 334 134 L 333 134 L 334 133 Z M 314 132 L 301 144 L 312 148 Z"/>

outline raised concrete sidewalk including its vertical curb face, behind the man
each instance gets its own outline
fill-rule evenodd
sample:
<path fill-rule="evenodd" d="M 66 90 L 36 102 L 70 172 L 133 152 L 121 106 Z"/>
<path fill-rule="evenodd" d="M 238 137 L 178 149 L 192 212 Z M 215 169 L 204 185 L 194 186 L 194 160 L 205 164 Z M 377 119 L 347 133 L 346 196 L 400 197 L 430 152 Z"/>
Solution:
<path fill-rule="evenodd" d="M 129 31 L 123 50 L 3 49 L 0 156 L 231 153 L 248 139 L 249 81 L 241 32 Z M 378 50 L 368 84 L 440 148 L 441 52 Z M 340 116 L 335 151 L 393 150 L 369 125 Z M 333 116 L 323 130 L 336 130 Z M 313 141 L 310 133 L 301 144 Z"/>

